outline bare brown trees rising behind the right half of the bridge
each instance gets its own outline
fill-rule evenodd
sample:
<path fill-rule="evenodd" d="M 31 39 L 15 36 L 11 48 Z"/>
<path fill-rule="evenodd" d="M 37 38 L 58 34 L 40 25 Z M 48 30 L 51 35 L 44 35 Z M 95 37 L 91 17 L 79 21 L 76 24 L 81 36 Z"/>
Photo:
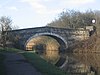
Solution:
<path fill-rule="evenodd" d="M 92 20 L 95 20 L 96 23 L 93 24 Z M 85 12 L 66 10 L 59 14 L 58 19 L 47 24 L 47 26 L 59 28 L 80 28 L 91 25 L 95 25 L 97 30 L 100 30 L 99 10 L 87 10 Z"/>

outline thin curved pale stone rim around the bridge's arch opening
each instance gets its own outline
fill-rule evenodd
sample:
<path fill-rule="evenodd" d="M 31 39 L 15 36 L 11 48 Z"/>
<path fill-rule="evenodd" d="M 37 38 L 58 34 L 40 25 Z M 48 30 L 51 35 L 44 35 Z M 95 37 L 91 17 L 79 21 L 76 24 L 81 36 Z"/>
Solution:
<path fill-rule="evenodd" d="M 30 37 L 30 38 L 26 41 L 26 43 L 25 43 L 25 49 L 27 49 L 27 48 L 26 48 L 27 43 L 28 43 L 32 38 L 36 38 L 36 37 L 38 37 L 38 36 L 50 36 L 50 37 L 56 39 L 56 40 L 59 42 L 59 44 L 63 46 L 63 49 L 67 49 L 67 48 L 68 48 L 67 41 L 66 41 L 64 38 L 62 38 L 61 36 L 57 35 L 57 34 L 54 34 L 54 33 L 37 33 L 37 34 L 33 35 L 32 37 Z"/>

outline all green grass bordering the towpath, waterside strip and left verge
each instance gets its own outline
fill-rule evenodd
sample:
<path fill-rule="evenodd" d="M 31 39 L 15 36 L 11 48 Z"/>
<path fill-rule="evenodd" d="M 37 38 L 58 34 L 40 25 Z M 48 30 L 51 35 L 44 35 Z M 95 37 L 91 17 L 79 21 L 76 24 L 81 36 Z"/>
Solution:
<path fill-rule="evenodd" d="M 42 75 L 69 75 L 65 71 L 52 65 L 51 63 L 40 58 L 39 55 L 33 52 L 26 52 L 14 48 L 0 48 L 0 52 L 13 52 L 22 54 Z M 0 54 L 0 60 L 4 60 L 4 56 Z M 5 67 L 3 61 L 0 61 L 0 75 L 5 75 Z"/>

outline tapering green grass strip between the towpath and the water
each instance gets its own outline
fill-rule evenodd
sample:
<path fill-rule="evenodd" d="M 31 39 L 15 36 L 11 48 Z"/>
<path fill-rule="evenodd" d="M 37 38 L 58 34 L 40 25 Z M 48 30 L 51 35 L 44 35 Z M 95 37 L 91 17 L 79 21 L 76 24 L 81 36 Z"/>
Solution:
<path fill-rule="evenodd" d="M 23 53 L 25 58 L 43 75 L 69 75 L 58 67 L 46 62 L 34 53 Z"/>

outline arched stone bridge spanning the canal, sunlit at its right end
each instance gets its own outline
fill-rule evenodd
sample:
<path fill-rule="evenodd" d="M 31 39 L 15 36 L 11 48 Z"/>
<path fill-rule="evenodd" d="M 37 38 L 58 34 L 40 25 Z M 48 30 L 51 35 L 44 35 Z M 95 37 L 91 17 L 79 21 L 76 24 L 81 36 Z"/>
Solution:
<path fill-rule="evenodd" d="M 15 46 L 20 49 L 31 50 L 32 48 L 27 46 L 30 40 L 39 36 L 49 36 L 58 41 L 61 50 L 66 50 L 76 41 L 87 39 L 89 37 L 89 30 L 83 28 L 66 29 L 54 27 L 37 27 L 13 30 L 9 31 L 8 34 L 12 36 Z"/>

